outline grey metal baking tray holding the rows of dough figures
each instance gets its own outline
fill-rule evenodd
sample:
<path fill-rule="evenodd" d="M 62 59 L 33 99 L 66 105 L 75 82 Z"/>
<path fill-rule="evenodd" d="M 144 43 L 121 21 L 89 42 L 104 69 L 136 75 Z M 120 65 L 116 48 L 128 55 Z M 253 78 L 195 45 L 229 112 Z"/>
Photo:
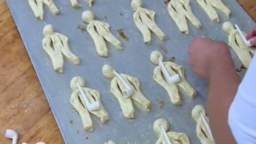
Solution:
<path fill-rule="evenodd" d="M 143 0 L 143 7 L 156 12 L 156 23 L 168 36 L 161 42 L 152 34 L 151 44 L 144 44 L 142 35 L 135 27 L 132 18 L 133 10 L 130 7 L 130 0 L 95 0 L 92 8 L 83 1 L 79 1 L 82 4 L 81 8 L 73 8 L 69 0 L 54 0 L 60 13 L 53 15 L 44 7 L 44 22 L 52 24 L 55 32 L 69 38 L 71 51 L 81 60 L 78 66 L 65 60 L 64 72 L 60 74 L 53 70 L 51 60 L 42 48 L 44 22 L 36 19 L 28 1 L 6 0 L 6 2 L 67 144 L 103 144 L 108 140 L 114 140 L 119 144 L 153 144 L 157 137 L 154 135 L 152 126 L 153 122 L 159 118 L 168 120 L 171 131 L 185 132 L 192 144 L 200 143 L 196 136 L 196 122 L 191 117 L 191 110 L 196 104 L 206 107 L 207 81 L 199 79 L 189 68 L 186 48 L 195 36 L 228 42 L 228 35 L 221 29 L 225 21 L 238 24 L 245 31 L 255 25 L 236 0 L 223 0 L 223 3 L 232 10 L 232 14 L 228 19 L 218 11 L 220 23 L 211 22 L 203 9 L 196 4 L 196 0 L 191 0 L 192 10 L 202 22 L 203 27 L 196 29 L 188 22 L 190 34 L 187 36 L 179 31 L 169 16 L 164 0 Z M 113 35 L 123 43 L 122 51 L 107 45 L 109 56 L 107 58 L 98 56 L 89 34 L 81 31 L 84 27 L 86 28 L 86 24 L 81 20 L 81 14 L 89 9 L 94 12 L 97 19 L 110 24 Z M 118 29 L 123 29 L 129 40 L 122 39 Z M 175 62 L 185 68 L 188 82 L 197 91 L 195 98 L 191 99 L 183 94 L 182 105 L 176 106 L 170 102 L 167 92 L 153 80 L 153 69 L 156 65 L 149 60 L 153 50 L 161 51 L 164 54 L 164 61 L 174 56 Z M 236 54 L 233 51 L 231 53 L 236 68 L 240 68 L 242 64 Z M 101 73 L 104 64 L 110 64 L 119 73 L 139 78 L 142 93 L 153 104 L 151 112 L 147 113 L 134 108 L 134 119 L 126 119 L 123 116 L 118 101 L 110 93 L 110 80 Z M 101 101 L 109 113 L 110 120 L 105 124 L 91 115 L 93 132 L 83 129 L 80 116 L 69 103 L 72 93 L 69 82 L 74 76 L 84 77 L 87 87 L 100 92 Z M 161 101 L 164 101 L 163 108 L 161 108 Z"/>

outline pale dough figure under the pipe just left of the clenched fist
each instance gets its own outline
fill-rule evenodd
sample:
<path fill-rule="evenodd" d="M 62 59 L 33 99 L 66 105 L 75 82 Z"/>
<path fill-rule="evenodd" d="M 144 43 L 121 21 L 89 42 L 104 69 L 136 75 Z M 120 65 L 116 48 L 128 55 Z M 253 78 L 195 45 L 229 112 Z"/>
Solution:
<path fill-rule="evenodd" d="M 159 57 L 161 60 L 164 59 L 161 52 L 153 51 L 150 54 L 150 61 L 158 65 Z M 178 74 L 180 76 L 180 81 L 178 83 L 171 83 L 167 80 L 166 76 L 162 76 L 163 69 L 160 65 L 154 69 L 154 80 L 156 81 L 157 84 L 161 85 L 167 91 L 172 103 L 175 105 L 181 104 L 181 99 L 177 85 L 181 89 L 183 89 L 188 94 L 189 97 L 193 98 L 196 95 L 196 90 L 185 79 L 184 68 L 171 61 L 164 62 L 164 66 L 171 76 L 174 76 L 175 74 Z"/>

